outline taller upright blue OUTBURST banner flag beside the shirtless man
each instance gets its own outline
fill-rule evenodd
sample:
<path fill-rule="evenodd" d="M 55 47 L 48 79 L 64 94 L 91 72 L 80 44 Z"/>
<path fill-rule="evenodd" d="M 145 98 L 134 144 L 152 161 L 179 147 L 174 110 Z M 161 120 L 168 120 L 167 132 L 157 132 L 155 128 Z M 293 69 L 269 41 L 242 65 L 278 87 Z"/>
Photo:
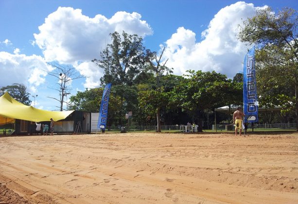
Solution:
<path fill-rule="evenodd" d="M 257 122 L 258 97 L 255 69 L 255 46 L 247 52 L 244 58 L 243 103 L 245 114 L 244 122 Z"/>

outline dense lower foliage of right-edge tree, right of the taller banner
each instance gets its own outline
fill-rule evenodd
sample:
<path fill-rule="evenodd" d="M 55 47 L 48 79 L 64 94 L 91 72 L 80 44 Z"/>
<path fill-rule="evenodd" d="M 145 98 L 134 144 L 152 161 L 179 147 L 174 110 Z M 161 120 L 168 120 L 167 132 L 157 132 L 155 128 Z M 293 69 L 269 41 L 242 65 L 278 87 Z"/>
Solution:
<path fill-rule="evenodd" d="M 283 111 L 289 112 L 295 110 L 293 104 L 298 70 L 295 63 L 285 60 L 285 52 L 287 51 L 272 45 L 257 50 L 256 78 L 260 106 L 280 106 L 283 107 Z"/>

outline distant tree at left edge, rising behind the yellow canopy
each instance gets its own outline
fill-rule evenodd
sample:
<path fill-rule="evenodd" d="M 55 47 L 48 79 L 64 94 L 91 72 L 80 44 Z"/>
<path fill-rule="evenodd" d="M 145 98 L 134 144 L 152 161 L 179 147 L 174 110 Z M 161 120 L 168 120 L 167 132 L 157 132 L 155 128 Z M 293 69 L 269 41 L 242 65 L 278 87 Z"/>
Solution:
<path fill-rule="evenodd" d="M 23 84 L 7 85 L 0 88 L 0 96 L 5 92 L 8 92 L 12 98 L 21 102 L 25 105 L 30 105 L 31 100 L 29 99 L 30 93 L 26 91 L 27 87 Z"/>

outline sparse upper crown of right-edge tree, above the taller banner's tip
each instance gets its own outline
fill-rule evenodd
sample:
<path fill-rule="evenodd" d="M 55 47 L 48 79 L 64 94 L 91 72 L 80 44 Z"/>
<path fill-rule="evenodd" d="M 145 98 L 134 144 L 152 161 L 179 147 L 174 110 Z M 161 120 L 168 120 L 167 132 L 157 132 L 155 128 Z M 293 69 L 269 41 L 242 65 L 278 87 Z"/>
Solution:
<path fill-rule="evenodd" d="M 247 18 L 240 27 L 239 39 L 263 46 L 272 44 L 284 47 L 287 44 L 295 52 L 294 47 L 297 48 L 298 43 L 297 19 L 297 12 L 291 8 L 285 8 L 277 15 L 269 7 L 257 10 L 256 16 Z"/>

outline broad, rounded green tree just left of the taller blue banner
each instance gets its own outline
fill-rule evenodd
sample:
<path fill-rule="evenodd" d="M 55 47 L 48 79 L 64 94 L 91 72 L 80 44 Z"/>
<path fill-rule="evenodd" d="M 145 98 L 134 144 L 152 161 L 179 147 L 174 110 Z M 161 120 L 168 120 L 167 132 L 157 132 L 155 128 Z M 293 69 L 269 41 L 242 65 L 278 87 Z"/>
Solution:
<path fill-rule="evenodd" d="M 214 110 L 226 104 L 242 102 L 242 84 L 232 82 L 226 75 L 203 71 L 189 74 L 175 86 L 171 101 L 193 115 L 202 132 L 202 118 L 206 109 Z"/>

